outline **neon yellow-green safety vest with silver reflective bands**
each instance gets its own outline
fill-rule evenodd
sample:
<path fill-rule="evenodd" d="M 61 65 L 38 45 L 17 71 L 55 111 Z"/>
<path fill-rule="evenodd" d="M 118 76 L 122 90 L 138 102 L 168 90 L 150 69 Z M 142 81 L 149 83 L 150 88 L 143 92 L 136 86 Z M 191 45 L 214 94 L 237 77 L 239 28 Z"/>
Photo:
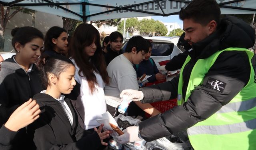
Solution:
<path fill-rule="evenodd" d="M 188 138 L 195 150 L 256 150 L 256 77 L 250 61 L 253 53 L 249 50 L 245 48 L 227 48 L 216 52 L 209 58 L 199 59 L 192 69 L 186 96 L 183 99 L 182 86 L 184 82 L 182 72 L 191 59 L 188 56 L 180 71 L 178 105 L 187 101 L 196 86 L 203 84 L 205 74 L 207 74 L 219 54 L 234 50 L 246 51 L 248 54 L 251 65 L 250 80 L 228 104 L 222 106 L 220 110 L 206 120 L 187 129 Z M 221 87 L 218 86 L 220 84 L 218 80 L 208 80 L 208 82 L 215 88 Z"/>

